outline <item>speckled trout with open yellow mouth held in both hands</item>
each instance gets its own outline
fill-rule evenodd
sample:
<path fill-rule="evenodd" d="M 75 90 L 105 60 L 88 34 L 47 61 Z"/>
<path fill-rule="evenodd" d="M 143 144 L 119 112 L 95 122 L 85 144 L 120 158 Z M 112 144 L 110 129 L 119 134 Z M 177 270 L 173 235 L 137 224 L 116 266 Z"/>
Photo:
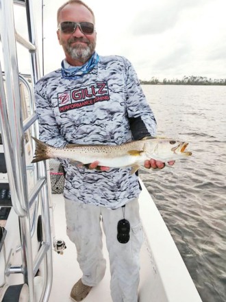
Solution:
<path fill-rule="evenodd" d="M 131 174 L 147 159 L 166 163 L 192 154 L 185 151 L 187 142 L 164 138 L 148 138 L 116 146 L 68 144 L 64 148 L 55 148 L 33 139 L 36 141 L 36 152 L 32 163 L 54 158 L 70 159 L 72 164 L 80 165 L 99 161 L 99 165 L 105 167 L 132 167 Z"/>

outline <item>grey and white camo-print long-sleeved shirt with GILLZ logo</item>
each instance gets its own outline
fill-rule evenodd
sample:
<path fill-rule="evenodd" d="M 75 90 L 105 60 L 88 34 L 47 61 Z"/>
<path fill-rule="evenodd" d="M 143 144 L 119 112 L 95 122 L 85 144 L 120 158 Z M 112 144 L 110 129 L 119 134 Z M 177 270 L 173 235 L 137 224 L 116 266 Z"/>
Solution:
<path fill-rule="evenodd" d="M 63 78 L 61 69 L 53 71 L 36 83 L 35 99 L 40 140 L 51 146 L 119 145 L 155 135 L 155 118 L 136 72 L 121 56 L 100 56 L 77 80 Z M 101 172 L 60 161 L 66 171 L 65 198 L 116 209 L 140 193 L 130 167 Z"/>

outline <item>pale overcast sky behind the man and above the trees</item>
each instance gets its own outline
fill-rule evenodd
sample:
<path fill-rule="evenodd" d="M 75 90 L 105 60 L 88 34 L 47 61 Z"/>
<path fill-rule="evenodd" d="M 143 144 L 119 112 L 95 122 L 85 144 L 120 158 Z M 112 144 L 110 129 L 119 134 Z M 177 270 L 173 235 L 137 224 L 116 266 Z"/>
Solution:
<path fill-rule="evenodd" d="M 36 3 L 41 54 L 41 1 Z M 64 0 L 45 0 L 45 73 L 64 58 L 56 36 L 56 12 Z M 202 75 L 226 78 L 225 0 L 86 0 L 95 12 L 99 55 L 125 56 L 138 77 L 183 78 Z M 16 9 L 16 27 L 23 34 L 23 12 Z M 21 49 L 18 47 L 18 49 Z M 23 69 L 26 69 L 23 55 Z"/>

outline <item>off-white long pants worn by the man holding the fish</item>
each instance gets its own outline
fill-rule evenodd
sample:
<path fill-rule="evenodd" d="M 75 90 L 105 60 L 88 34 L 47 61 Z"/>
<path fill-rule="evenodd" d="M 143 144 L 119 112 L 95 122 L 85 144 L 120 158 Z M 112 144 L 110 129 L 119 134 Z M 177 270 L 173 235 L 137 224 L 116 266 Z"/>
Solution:
<path fill-rule="evenodd" d="M 130 239 L 126 244 L 117 240 L 117 224 L 123 219 L 130 224 Z M 138 199 L 116 210 L 93 205 L 84 205 L 65 199 L 67 235 L 77 248 L 77 261 L 83 272 L 82 282 L 97 286 L 105 274 L 106 262 L 102 253 L 102 232 L 106 236 L 110 257 L 111 295 L 113 302 L 138 302 L 140 248 L 142 224 Z"/>

